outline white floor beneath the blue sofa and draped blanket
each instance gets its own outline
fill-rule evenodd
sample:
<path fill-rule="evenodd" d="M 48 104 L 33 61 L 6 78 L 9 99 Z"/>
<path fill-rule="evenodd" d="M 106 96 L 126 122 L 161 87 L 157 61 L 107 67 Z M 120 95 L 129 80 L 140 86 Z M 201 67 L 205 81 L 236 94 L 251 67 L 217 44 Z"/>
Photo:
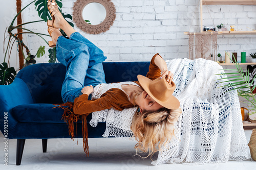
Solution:
<path fill-rule="evenodd" d="M 245 130 L 247 143 L 252 130 Z M 27 139 L 22 163 L 16 166 L 16 139 L 8 140 L 8 166 L 4 165 L 4 136 L 0 133 L 0 169 L 256 169 L 252 159 L 237 162 L 228 161 L 219 164 L 184 165 L 163 164 L 154 166 L 151 159 L 142 159 L 135 155 L 134 141 L 120 138 L 90 138 L 90 156 L 83 153 L 82 141 L 78 139 L 48 139 L 47 153 L 42 153 L 41 139 Z M 155 156 L 154 159 L 157 157 Z M 2 159 L 2 160 L 1 160 Z"/>

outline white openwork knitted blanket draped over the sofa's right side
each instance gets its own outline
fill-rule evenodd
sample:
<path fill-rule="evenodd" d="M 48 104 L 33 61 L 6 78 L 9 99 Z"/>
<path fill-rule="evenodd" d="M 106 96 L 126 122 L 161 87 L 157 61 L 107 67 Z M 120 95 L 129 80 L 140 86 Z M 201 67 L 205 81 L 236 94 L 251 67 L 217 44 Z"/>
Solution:
<path fill-rule="evenodd" d="M 223 68 L 201 58 L 166 60 L 166 63 L 174 73 L 174 95 L 180 101 L 182 114 L 175 124 L 176 138 L 168 143 L 168 149 L 162 148 L 152 164 L 194 165 L 249 159 L 237 91 L 218 88 L 225 83 L 216 84 L 217 79 L 224 77 L 216 76 Z M 91 125 L 106 121 L 104 137 L 130 137 L 135 110 L 110 109 L 93 113 Z"/>

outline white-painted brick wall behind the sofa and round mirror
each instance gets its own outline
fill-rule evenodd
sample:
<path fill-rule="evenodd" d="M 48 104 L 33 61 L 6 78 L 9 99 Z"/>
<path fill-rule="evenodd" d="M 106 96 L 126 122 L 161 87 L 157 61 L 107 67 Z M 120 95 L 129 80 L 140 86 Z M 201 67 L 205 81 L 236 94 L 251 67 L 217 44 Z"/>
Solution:
<path fill-rule="evenodd" d="M 29 2 L 30 0 L 24 0 L 23 6 Z M 62 11 L 72 14 L 74 2 L 75 0 L 62 1 Z M 109 31 L 90 35 L 75 27 L 104 51 L 105 56 L 108 57 L 107 61 L 148 61 L 155 53 L 160 53 L 165 59 L 188 58 L 188 36 L 183 32 L 199 32 L 199 0 L 112 0 L 112 2 L 116 7 L 116 20 Z M 10 9 L 13 6 L 8 5 L 9 9 L 5 6 L 1 8 L 1 12 L 4 10 L 5 15 L 10 16 Z M 204 6 L 203 11 L 204 25 L 211 26 L 213 20 L 215 26 L 224 23 L 228 28 L 230 25 L 235 25 L 235 29 L 249 30 L 246 27 L 256 29 L 256 6 L 214 5 Z M 24 11 L 23 19 L 24 22 L 40 19 L 34 5 Z M 3 27 L 6 26 L 1 25 L 2 33 Z M 47 34 L 45 22 L 26 28 Z M 50 37 L 45 38 L 50 40 Z M 27 36 L 26 42 L 32 54 L 36 53 L 40 45 L 47 45 L 37 36 Z M 2 48 L 2 44 L 0 45 Z M 245 51 L 248 55 L 256 52 L 255 46 L 256 35 L 218 36 L 218 52 L 222 55 L 224 51 L 236 51 L 238 56 L 240 52 Z M 36 59 L 37 63 L 48 62 L 47 55 Z M 15 63 L 15 57 L 12 60 Z"/>

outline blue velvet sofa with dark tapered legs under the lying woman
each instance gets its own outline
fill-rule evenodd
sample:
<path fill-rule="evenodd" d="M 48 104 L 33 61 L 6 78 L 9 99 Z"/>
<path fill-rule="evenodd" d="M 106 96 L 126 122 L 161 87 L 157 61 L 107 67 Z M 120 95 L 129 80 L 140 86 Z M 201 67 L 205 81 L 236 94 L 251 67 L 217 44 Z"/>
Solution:
<path fill-rule="evenodd" d="M 104 62 L 106 83 L 136 81 L 138 74 L 146 75 L 149 65 Z M 0 86 L 0 128 L 6 138 L 17 139 L 16 165 L 21 163 L 26 139 L 42 139 L 42 152 L 47 152 L 48 138 L 70 138 L 68 125 L 61 119 L 63 110 L 53 109 L 53 104 L 63 103 L 61 85 L 65 74 L 66 67 L 61 63 L 33 64 L 20 70 L 12 84 Z M 87 119 L 89 123 L 91 114 Z M 102 137 L 104 131 L 105 123 L 97 127 L 88 124 L 89 138 Z M 81 122 L 77 123 L 77 135 L 82 137 Z"/>

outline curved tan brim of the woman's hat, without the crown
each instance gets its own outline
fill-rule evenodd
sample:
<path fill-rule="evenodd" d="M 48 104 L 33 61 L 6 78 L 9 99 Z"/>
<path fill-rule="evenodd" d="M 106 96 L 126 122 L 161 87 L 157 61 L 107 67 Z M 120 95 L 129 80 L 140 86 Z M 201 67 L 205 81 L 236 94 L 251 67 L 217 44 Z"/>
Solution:
<path fill-rule="evenodd" d="M 145 76 L 142 75 L 138 75 L 137 76 L 138 81 L 140 83 L 140 85 L 142 86 L 142 88 L 147 92 L 148 95 L 151 96 L 151 98 L 153 98 L 158 104 L 160 104 L 161 106 L 167 108 L 167 109 L 178 109 L 180 107 L 180 101 L 174 96 L 174 95 L 170 95 L 169 99 L 165 102 L 159 101 L 158 99 L 155 98 L 155 96 L 152 94 L 152 92 L 150 91 L 150 82 L 152 82 L 153 80 L 148 79 Z M 158 78 L 159 79 L 159 78 Z"/>

